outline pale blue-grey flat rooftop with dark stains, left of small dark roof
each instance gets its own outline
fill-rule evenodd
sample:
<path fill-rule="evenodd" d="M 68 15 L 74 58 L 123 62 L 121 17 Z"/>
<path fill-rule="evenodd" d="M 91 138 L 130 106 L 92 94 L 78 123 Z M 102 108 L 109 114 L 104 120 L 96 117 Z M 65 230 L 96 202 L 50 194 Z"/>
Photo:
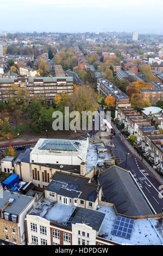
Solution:
<path fill-rule="evenodd" d="M 55 202 L 47 198 L 43 198 L 35 209 L 31 212 L 31 215 L 40 216 L 50 221 L 57 221 L 58 224 L 65 223 L 71 217 L 76 206 L 65 205 Z"/>

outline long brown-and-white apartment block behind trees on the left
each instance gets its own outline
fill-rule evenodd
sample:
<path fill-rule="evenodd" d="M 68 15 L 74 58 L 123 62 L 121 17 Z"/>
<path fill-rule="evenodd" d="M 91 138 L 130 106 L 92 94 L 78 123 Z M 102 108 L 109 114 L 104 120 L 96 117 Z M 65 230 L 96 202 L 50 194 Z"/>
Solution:
<path fill-rule="evenodd" d="M 18 77 L 0 78 L 0 99 L 7 100 L 12 84 L 24 88 L 28 92 L 29 101 L 34 96 L 40 96 L 42 100 L 47 98 L 54 101 L 57 94 L 73 94 L 73 77 Z M 15 92 L 16 93 L 16 92 Z M 10 95 L 11 97 L 14 95 Z"/>

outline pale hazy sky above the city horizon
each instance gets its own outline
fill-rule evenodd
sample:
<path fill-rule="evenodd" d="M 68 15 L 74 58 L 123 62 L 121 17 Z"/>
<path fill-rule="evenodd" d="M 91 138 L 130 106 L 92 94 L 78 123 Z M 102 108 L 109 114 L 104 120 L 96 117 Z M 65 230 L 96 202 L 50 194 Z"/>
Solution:
<path fill-rule="evenodd" d="M 162 0 L 0 0 L 0 31 L 163 33 Z"/>

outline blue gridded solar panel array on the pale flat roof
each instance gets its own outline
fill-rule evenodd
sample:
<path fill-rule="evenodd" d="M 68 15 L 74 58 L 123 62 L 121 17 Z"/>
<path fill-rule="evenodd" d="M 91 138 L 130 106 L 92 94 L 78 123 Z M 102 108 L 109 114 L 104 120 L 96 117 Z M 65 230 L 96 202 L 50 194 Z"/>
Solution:
<path fill-rule="evenodd" d="M 121 236 L 127 239 L 131 238 L 131 234 L 134 227 L 134 220 L 117 216 L 112 235 Z"/>

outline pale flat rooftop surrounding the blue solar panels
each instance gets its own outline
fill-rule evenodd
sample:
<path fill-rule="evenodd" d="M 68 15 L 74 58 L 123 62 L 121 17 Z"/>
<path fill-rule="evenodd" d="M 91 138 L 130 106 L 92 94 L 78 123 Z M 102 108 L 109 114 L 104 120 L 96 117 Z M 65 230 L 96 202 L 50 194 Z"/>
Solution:
<path fill-rule="evenodd" d="M 156 228 L 158 220 L 145 219 L 135 220 L 131 239 L 126 239 L 120 236 L 112 235 L 114 229 L 116 214 L 112 207 L 99 204 L 96 211 L 105 214 L 102 227 L 99 230 L 98 236 L 104 239 L 111 240 L 117 243 L 128 243 L 130 245 L 162 245 L 160 232 L 163 229 L 160 227 L 160 231 Z M 152 221 L 151 221 L 152 220 Z M 153 228 L 153 224 L 156 230 Z"/>

